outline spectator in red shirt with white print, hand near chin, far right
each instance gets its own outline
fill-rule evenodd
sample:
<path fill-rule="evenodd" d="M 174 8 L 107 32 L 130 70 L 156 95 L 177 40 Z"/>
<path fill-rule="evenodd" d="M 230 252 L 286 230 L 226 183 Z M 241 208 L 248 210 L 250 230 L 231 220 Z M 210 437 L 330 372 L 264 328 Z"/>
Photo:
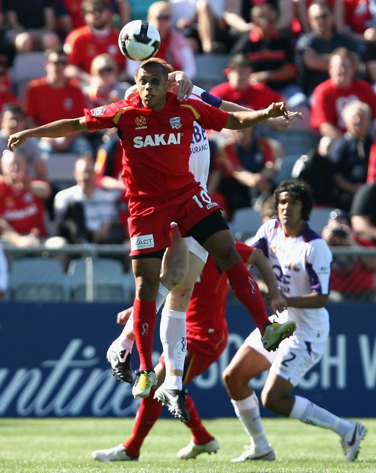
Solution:
<path fill-rule="evenodd" d="M 336 49 L 330 56 L 330 78 L 313 91 L 311 126 L 318 129 L 322 137 L 319 144 L 322 156 L 346 131 L 342 110 L 347 103 L 365 102 L 370 106 L 372 117 L 376 117 L 376 95 L 368 82 L 354 79 L 356 65 L 354 53 L 345 48 Z"/>

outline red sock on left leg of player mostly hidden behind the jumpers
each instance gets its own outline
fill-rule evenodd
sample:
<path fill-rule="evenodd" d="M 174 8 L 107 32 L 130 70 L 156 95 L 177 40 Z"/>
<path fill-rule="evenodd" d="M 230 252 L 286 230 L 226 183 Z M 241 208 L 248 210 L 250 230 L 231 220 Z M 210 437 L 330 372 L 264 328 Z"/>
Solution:
<path fill-rule="evenodd" d="M 133 458 L 140 454 L 140 448 L 146 435 L 158 420 L 162 411 L 162 404 L 153 399 L 154 392 L 155 390 L 152 389 L 149 397 L 141 399 L 141 403 L 134 419 L 132 433 L 123 443 L 127 449 L 127 455 L 132 456 Z"/>

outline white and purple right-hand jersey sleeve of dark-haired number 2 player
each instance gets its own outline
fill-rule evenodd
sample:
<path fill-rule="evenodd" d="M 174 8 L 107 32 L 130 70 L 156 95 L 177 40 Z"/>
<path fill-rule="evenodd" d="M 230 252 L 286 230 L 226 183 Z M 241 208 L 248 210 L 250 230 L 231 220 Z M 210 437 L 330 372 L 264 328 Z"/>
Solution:
<path fill-rule="evenodd" d="M 329 294 L 331 262 L 332 254 L 325 241 L 313 240 L 305 262 L 312 292 Z"/>

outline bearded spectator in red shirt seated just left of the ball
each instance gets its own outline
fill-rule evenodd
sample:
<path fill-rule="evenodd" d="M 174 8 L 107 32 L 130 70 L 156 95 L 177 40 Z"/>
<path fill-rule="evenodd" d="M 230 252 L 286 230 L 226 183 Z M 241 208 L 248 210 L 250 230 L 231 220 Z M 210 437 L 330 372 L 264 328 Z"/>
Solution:
<path fill-rule="evenodd" d="M 125 58 L 118 46 L 119 30 L 112 24 L 111 6 L 106 0 L 84 0 L 82 11 L 85 26 L 73 30 L 65 40 L 64 50 L 70 63 L 66 73 L 88 82 L 92 60 L 106 53 L 115 60 L 121 74 Z"/>

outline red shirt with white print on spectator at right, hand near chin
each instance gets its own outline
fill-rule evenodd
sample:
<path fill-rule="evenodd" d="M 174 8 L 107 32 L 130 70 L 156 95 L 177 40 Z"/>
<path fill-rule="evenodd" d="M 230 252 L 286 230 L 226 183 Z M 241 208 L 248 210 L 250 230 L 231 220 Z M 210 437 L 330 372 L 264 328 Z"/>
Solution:
<path fill-rule="evenodd" d="M 349 102 L 360 100 L 371 108 L 376 117 L 376 94 L 370 84 L 364 80 L 354 79 L 350 87 L 340 89 L 331 79 L 319 84 L 312 95 L 311 126 L 318 128 L 322 123 L 331 123 L 343 132 L 346 131 L 342 110 Z"/>

